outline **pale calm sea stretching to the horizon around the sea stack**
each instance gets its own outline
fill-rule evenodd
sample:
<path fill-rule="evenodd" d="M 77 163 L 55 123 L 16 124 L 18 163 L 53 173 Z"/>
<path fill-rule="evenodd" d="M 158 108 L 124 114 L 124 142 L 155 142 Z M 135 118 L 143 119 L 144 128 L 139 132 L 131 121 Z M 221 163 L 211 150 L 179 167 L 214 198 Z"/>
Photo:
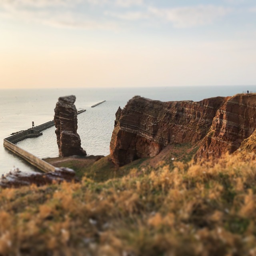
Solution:
<path fill-rule="evenodd" d="M 84 88 L 84 89 L 24 89 L 0 90 L 0 139 L 12 132 L 26 130 L 53 120 L 58 97 L 73 94 L 76 108 L 86 109 L 78 115 L 78 134 L 88 155 L 108 155 L 114 128 L 115 113 L 135 95 L 161 101 L 193 100 L 215 96 L 232 96 L 245 91 L 256 91 L 256 86 L 200 86 L 157 88 Z M 92 105 L 106 100 L 103 104 Z M 58 156 L 55 127 L 43 131 L 38 138 L 18 142 L 18 146 L 40 157 Z M 0 147 L 0 174 L 18 167 L 22 171 L 35 170 L 24 160 L 3 146 Z"/>

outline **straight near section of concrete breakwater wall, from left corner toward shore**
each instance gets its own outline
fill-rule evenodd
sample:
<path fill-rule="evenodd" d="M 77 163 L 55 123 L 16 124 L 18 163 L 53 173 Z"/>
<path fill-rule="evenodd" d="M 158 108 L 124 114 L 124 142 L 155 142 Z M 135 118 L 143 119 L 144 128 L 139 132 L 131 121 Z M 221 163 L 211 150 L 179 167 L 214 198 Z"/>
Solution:
<path fill-rule="evenodd" d="M 55 167 L 51 164 L 45 162 L 44 160 L 34 156 L 33 154 L 29 153 L 28 151 L 18 147 L 17 145 L 13 144 L 12 142 L 7 140 L 8 138 L 4 139 L 4 147 L 8 150 L 12 151 L 14 154 L 20 156 L 39 170 L 43 172 L 54 172 Z"/>

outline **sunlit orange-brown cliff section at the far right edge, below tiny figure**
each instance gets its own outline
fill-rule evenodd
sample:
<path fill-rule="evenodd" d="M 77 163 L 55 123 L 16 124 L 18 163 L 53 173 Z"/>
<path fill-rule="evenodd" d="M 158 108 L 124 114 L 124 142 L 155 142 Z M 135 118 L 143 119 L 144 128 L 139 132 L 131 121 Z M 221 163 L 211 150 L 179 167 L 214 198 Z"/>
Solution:
<path fill-rule="evenodd" d="M 227 98 L 216 112 L 212 126 L 196 153 L 196 159 L 212 159 L 224 152 L 233 153 L 252 135 L 255 128 L 256 94 L 237 94 Z"/>

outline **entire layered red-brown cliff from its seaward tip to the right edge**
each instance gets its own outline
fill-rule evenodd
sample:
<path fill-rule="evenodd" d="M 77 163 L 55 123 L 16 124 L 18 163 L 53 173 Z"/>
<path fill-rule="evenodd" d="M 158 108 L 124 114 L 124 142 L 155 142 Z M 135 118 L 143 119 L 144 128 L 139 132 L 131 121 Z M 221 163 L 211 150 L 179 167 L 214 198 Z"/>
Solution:
<path fill-rule="evenodd" d="M 256 128 L 256 94 L 200 102 L 132 98 L 116 113 L 110 142 L 114 164 L 156 156 L 169 143 L 198 145 L 195 159 L 234 152 Z"/>

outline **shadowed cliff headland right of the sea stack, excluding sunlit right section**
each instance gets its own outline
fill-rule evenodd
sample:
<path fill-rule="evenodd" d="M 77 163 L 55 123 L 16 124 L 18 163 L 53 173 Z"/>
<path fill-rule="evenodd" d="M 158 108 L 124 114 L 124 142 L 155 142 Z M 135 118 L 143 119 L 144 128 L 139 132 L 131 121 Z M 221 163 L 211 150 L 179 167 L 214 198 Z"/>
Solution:
<path fill-rule="evenodd" d="M 156 156 L 169 143 L 196 144 L 206 136 L 225 101 L 216 97 L 200 102 L 160 102 L 135 96 L 116 113 L 110 142 L 112 161 L 123 166 Z"/>

